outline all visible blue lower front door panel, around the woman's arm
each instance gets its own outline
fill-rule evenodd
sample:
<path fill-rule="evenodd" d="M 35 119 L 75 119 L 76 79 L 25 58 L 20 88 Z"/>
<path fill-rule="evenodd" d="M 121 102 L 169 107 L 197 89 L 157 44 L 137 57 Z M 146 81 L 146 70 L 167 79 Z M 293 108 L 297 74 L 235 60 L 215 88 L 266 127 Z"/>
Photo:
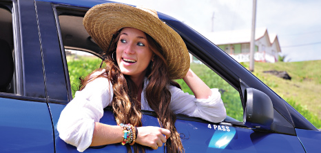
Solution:
<path fill-rule="evenodd" d="M 59 138 L 56 131 L 56 123 L 59 114 L 65 105 L 50 103 L 52 121 L 56 137 L 56 152 L 77 152 L 76 147 L 68 145 Z M 114 114 L 105 110 L 101 123 L 116 125 Z M 158 126 L 154 116 L 143 114 L 144 126 Z M 195 121 L 176 120 L 176 129 L 180 133 L 186 152 L 304 152 L 302 145 L 296 136 L 267 132 L 254 132 L 247 128 L 235 128 L 225 124 L 199 123 Z M 211 128 L 209 128 L 211 127 Z M 227 136 L 228 143 L 225 146 L 214 147 L 212 143 L 224 139 Z M 271 147 L 273 146 L 273 147 Z M 121 144 L 112 144 L 104 147 L 89 147 L 86 152 L 125 152 L 126 147 Z M 163 152 L 163 147 L 158 150 L 147 149 L 147 152 Z"/>

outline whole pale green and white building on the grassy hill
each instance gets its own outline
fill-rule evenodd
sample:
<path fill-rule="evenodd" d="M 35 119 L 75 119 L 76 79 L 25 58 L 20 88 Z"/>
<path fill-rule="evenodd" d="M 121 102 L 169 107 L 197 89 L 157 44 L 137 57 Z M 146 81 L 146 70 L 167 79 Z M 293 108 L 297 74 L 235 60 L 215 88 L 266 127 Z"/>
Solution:
<path fill-rule="evenodd" d="M 249 61 L 251 29 L 209 32 L 204 35 L 238 62 Z M 267 28 L 257 28 L 255 35 L 254 60 L 274 63 L 281 52 L 276 34 L 269 34 Z"/>

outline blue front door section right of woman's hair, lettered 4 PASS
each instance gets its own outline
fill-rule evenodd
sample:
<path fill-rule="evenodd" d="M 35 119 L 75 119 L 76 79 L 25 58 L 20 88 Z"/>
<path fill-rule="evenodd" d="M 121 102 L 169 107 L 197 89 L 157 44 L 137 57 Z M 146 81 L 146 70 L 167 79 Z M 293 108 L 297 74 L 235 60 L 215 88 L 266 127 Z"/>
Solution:
<path fill-rule="evenodd" d="M 230 131 L 226 128 L 225 131 L 223 128 L 221 130 L 209 128 L 208 123 L 176 121 L 178 132 L 185 135 L 182 141 L 187 152 L 304 152 L 296 136 L 254 132 L 251 129 L 230 127 L 225 124 L 215 125 L 229 127 Z M 229 136 L 232 139 L 225 148 L 209 146 L 213 136 L 218 133 L 231 134 Z"/>

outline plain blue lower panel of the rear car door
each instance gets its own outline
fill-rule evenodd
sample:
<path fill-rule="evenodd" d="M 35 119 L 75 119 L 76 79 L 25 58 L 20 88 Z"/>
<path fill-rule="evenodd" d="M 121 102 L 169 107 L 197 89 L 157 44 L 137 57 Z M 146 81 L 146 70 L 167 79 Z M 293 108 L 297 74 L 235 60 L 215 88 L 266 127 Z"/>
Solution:
<path fill-rule="evenodd" d="M 0 152 L 54 152 L 47 103 L 0 98 Z"/>

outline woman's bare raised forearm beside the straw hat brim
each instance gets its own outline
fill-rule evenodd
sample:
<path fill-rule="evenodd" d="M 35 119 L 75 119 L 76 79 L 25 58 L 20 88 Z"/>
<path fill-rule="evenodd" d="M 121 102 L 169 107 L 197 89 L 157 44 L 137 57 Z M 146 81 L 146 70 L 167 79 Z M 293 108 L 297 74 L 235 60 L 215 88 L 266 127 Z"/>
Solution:
<path fill-rule="evenodd" d="M 191 69 L 183 80 L 194 93 L 196 99 L 208 99 L 211 96 L 211 89 Z"/>

